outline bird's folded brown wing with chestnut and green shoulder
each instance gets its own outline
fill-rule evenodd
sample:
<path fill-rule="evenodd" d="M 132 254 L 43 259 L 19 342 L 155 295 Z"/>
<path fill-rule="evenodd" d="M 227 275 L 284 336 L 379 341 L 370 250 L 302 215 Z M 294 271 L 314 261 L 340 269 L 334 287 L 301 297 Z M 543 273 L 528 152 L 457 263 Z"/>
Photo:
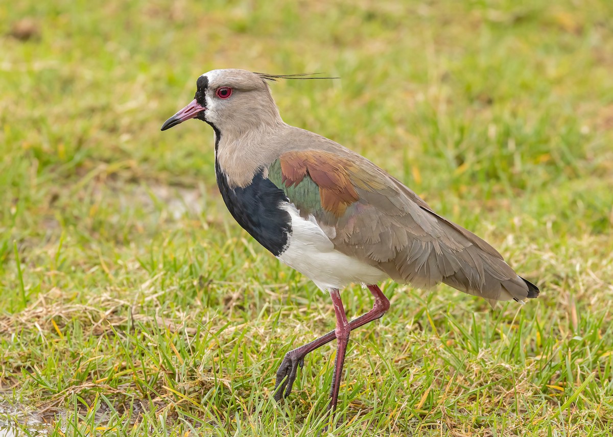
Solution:
<path fill-rule="evenodd" d="M 268 178 L 304 218 L 313 216 L 335 249 L 417 287 L 444 282 L 490 303 L 538 295 L 496 249 L 347 151 L 288 151 L 268 167 Z"/>

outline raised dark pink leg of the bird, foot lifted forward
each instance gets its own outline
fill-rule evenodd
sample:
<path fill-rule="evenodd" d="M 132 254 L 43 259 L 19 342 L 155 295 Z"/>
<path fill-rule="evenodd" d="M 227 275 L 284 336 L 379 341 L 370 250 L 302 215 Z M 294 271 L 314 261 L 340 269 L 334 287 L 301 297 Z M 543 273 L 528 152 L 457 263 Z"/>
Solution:
<path fill-rule="evenodd" d="M 349 330 L 354 330 L 359 328 L 362 325 L 367 324 L 373 320 L 379 319 L 379 317 L 383 316 L 387 310 L 389 310 L 389 300 L 387 297 L 381 292 L 376 285 L 369 285 L 368 290 L 370 290 L 371 294 L 375 297 L 375 303 L 373 305 L 372 310 L 368 311 L 368 313 L 357 317 L 357 319 L 349 322 Z M 337 291 L 338 293 L 338 291 Z M 342 303 L 341 303 L 342 308 Z M 335 305 L 335 313 L 336 305 Z M 337 329 L 338 329 L 338 314 L 337 314 Z M 289 396 L 289 393 L 292 392 L 292 386 L 294 385 L 294 381 L 296 379 L 298 367 L 302 367 L 304 365 L 304 359 L 310 352 L 313 352 L 315 349 L 323 346 L 326 343 L 337 338 L 337 330 L 330 331 L 326 335 L 322 335 L 316 340 L 311 341 L 300 348 L 293 349 L 292 351 L 287 352 L 285 357 L 283 358 L 283 362 L 279 366 L 279 369 L 276 371 L 276 382 L 275 382 L 275 399 L 277 401 L 281 400 L 281 397 Z M 343 359 L 345 355 L 343 354 Z M 337 360 L 338 360 L 338 352 L 337 352 Z M 335 365 L 335 373 L 336 373 L 336 365 Z M 342 367 L 342 366 L 341 366 Z M 341 369 L 342 370 L 342 369 Z M 340 374 L 340 373 L 339 373 Z M 336 374 L 335 374 L 336 376 Z M 330 393 L 332 396 L 332 393 Z M 337 389 L 337 397 L 338 397 L 338 389 Z M 332 400 L 330 401 L 330 405 L 332 405 Z M 336 400 L 334 400 L 334 405 L 336 405 Z"/>

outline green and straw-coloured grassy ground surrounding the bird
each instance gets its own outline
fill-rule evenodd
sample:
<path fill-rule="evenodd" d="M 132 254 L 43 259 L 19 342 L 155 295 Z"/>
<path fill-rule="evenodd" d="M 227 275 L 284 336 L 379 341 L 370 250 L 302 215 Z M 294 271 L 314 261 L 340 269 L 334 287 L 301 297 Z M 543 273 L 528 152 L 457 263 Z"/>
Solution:
<path fill-rule="evenodd" d="M 329 297 L 230 218 L 206 124 L 159 131 L 198 75 L 243 67 L 340 76 L 275 83 L 284 120 L 541 287 L 492 311 L 384 284 L 335 435 L 610 435 L 612 16 L 607 0 L 1 7 L 0 406 L 54 436 L 316 435 L 335 345 L 281 405 L 272 388 L 285 352 L 333 328 Z"/>

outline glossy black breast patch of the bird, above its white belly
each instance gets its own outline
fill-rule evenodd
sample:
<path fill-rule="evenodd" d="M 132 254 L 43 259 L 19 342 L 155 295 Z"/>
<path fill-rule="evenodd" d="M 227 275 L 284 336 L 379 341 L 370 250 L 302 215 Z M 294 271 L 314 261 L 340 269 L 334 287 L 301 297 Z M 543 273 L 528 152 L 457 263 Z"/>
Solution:
<path fill-rule="evenodd" d="M 287 249 L 287 240 L 292 233 L 292 219 L 281 208 L 287 202 L 285 193 L 275 184 L 257 173 L 245 188 L 232 189 L 226 175 L 215 161 L 217 186 L 232 217 L 258 243 L 279 256 Z"/>

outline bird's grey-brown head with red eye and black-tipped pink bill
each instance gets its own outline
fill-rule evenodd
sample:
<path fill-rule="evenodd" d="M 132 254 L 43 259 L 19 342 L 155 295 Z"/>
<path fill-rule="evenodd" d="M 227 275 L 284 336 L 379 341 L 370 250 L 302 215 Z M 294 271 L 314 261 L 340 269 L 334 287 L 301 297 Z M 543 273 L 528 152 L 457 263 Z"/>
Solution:
<path fill-rule="evenodd" d="M 224 134 L 283 123 L 265 77 L 238 69 L 211 70 L 200 76 L 194 100 L 166 120 L 162 131 L 190 118 L 206 121 Z"/>

